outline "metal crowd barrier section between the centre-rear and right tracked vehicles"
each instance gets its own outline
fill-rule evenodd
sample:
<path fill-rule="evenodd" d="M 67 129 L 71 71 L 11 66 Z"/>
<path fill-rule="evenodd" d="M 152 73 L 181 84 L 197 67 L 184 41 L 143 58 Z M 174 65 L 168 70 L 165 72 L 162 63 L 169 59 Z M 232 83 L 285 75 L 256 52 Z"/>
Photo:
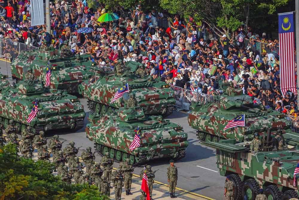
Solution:
<path fill-rule="evenodd" d="M 176 99 L 175 106 L 182 110 L 191 110 L 190 107 L 193 102 L 206 104 L 210 101 L 214 101 L 214 97 L 208 94 L 187 90 L 175 85 L 170 85 L 170 87 L 174 91 L 174 98 Z"/>

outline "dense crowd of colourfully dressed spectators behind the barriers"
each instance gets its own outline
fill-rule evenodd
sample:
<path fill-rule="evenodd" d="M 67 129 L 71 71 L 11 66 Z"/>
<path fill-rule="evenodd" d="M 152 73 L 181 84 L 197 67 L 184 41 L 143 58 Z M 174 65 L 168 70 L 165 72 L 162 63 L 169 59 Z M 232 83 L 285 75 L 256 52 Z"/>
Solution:
<path fill-rule="evenodd" d="M 277 53 L 263 47 L 258 48 L 262 52 L 256 50 L 262 43 L 276 48 L 277 39 L 267 38 L 266 33 L 260 36 L 244 26 L 233 36 L 217 39 L 209 35 L 215 33 L 205 24 L 199 27 L 192 17 L 182 20 L 178 15 L 168 17 L 170 26 L 164 27 L 157 19 L 165 14 L 152 10 L 144 20 L 138 17 L 144 15 L 140 6 L 133 10 L 131 18 L 99 23 L 104 7 L 100 4 L 94 9 L 81 0 L 50 2 L 48 33 L 45 25 L 31 26 L 29 0 L 1 2 L 0 37 L 36 47 L 44 43 L 57 49 L 65 43 L 74 54 L 90 54 L 91 61 L 102 67 L 113 68 L 119 60 L 123 64 L 140 62 L 153 79 L 201 94 L 219 94 L 222 79 L 252 96 L 256 103 L 289 115 L 299 114 L 296 96 L 291 92 L 284 97 L 281 94 Z M 93 31 L 78 33 L 82 27 Z M 246 38 L 250 40 L 247 45 Z"/>

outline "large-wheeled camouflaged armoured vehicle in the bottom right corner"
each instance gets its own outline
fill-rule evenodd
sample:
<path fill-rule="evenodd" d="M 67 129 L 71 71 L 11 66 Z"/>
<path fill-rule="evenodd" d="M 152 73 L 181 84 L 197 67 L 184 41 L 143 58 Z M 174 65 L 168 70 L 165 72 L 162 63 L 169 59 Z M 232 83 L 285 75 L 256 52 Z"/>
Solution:
<path fill-rule="evenodd" d="M 299 144 L 298 133 L 295 138 L 286 134 L 283 136 L 287 144 Z M 228 176 L 234 183 L 234 199 L 254 200 L 260 189 L 264 190 L 267 199 L 298 199 L 298 180 L 293 185 L 294 170 L 299 161 L 298 147 L 251 152 L 248 145 L 234 139 L 202 144 L 216 149 L 216 164 L 220 175 Z"/>

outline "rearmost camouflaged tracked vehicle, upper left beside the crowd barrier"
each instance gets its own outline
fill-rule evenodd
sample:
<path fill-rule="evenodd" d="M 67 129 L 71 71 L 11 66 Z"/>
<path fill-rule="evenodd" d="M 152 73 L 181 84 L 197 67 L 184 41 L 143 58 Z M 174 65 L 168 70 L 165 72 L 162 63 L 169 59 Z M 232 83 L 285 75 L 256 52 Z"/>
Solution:
<path fill-rule="evenodd" d="M 50 88 L 77 93 L 78 84 L 94 76 L 94 70 L 89 67 L 95 63 L 89 61 L 89 55 L 73 56 L 72 53 L 53 47 L 41 47 L 38 52 L 22 53 L 12 61 L 12 77 L 25 80 L 26 73 L 31 70 L 36 79 L 45 82 L 48 62 L 51 69 Z"/>

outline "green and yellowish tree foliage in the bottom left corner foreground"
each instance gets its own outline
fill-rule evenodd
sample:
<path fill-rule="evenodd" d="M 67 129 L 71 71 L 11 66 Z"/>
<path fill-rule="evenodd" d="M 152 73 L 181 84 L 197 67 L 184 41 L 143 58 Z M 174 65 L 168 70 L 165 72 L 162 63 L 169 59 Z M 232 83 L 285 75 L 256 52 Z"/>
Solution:
<path fill-rule="evenodd" d="M 0 149 L 0 200 L 108 199 L 95 186 L 66 184 L 52 170 L 51 163 L 18 157 L 15 146 L 7 144 Z"/>

